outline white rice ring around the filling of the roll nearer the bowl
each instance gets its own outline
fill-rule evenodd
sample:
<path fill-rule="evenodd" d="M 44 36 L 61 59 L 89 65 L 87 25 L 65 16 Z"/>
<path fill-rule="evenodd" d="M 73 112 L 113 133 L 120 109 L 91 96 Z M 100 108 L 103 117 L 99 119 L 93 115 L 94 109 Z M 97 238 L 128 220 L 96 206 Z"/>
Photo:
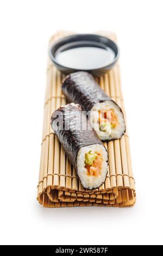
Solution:
<path fill-rule="evenodd" d="M 110 109 L 114 109 L 114 112 L 118 118 L 118 125 L 114 128 L 110 127 L 110 130 L 108 130 L 108 131 L 101 131 L 99 129 L 99 123 L 98 123 L 98 120 L 99 120 L 98 111 L 109 111 Z M 105 141 L 105 140 L 110 141 L 111 139 L 121 138 L 126 129 L 126 125 L 124 122 L 124 118 L 123 118 L 121 109 L 112 101 L 104 101 L 104 102 L 96 103 L 91 109 L 90 121 L 91 121 L 93 129 L 95 129 L 97 135 L 103 141 Z"/>

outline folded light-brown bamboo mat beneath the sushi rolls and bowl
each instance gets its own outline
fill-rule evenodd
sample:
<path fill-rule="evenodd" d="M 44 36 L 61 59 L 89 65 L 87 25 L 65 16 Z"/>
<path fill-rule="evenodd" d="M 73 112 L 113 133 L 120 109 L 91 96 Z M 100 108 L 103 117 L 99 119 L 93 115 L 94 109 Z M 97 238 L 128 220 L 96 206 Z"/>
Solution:
<path fill-rule="evenodd" d="M 72 33 L 58 32 L 52 36 L 49 44 L 51 45 L 55 40 L 68 34 Z M 100 32 L 98 34 L 108 36 L 116 41 L 114 33 Z M 54 110 L 66 103 L 64 95 L 61 94 L 62 78 L 64 78 L 64 75 L 54 67 L 48 58 L 37 200 L 40 204 L 49 208 L 133 206 L 136 193 L 127 132 L 121 139 L 104 143 L 109 154 L 108 174 L 105 183 L 96 190 L 86 190 L 80 183 L 50 125 Z M 126 119 L 118 63 L 104 76 L 95 79 L 102 89 L 120 105 Z"/>

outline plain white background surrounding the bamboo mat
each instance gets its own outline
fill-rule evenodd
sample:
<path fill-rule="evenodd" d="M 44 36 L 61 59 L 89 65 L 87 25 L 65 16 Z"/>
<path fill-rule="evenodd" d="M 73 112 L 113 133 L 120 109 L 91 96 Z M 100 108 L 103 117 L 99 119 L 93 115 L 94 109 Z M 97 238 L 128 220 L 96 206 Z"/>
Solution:
<path fill-rule="evenodd" d="M 2 244 L 162 244 L 162 1 L 0 3 Z M 49 37 L 115 31 L 137 202 L 45 209 L 36 201 Z"/>

